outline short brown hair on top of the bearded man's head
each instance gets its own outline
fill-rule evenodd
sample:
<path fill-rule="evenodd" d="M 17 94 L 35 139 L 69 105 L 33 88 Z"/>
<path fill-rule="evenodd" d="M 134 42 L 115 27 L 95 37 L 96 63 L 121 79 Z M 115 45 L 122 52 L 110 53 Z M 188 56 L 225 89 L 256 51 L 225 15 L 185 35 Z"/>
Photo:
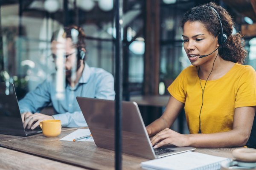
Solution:
<path fill-rule="evenodd" d="M 79 27 L 79 26 L 67 26 L 67 27 L 64 27 L 64 34 L 62 35 L 64 38 L 71 38 L 72 40 L 74 39 L 74 36 L 71 34 L 72 33 L 72 30 L 75 29 L 78 31 L 78 35 L 77 35 L 77 42 L 76 42 L 76 47 L 78 48 L 85 48 L 86 47 L 86 44 L 85 44 L 85 34 L 84 34 L 84 30 Z M 52 34 L 52 38 L 51 38 L 51 42 L 53 40 L 57 40 L 58 38 L 58 33 L 59 33 L 60 29 L 55 31 L 53 34 Z M 74 41 L 74 40 L 73 40 Z"/>

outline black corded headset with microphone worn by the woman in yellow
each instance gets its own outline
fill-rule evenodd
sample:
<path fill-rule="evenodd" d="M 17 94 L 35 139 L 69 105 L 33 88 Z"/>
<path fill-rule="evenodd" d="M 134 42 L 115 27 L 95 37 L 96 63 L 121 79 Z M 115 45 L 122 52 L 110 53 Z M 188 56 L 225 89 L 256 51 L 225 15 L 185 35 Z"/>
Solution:
<path fill-rule="evenodd" d="M 219 44 L 219 46 L 214 50 L 214 51 L 216 51 L 221 45 L 223 45 L 225 42 L 227 42 L 227 34 L 223 32 L 222 23 L 221 23 L 221 17 L 220 17 L 220 15 L 218 14 L 218 12 L 217 12 L 213 7 L 211 7 L 211 6 L 208 6 L 208 7 L 211 8 L 211 9 L 217 14 L 218 20 L 219 20 L 219 22 L 220 22 L 220 27 L 221 27 L 221 32 L 220 32 L 220 34 L 218 35 L 218 44 Z M 212 51 L 212 53 L 213 53 L 214 51 Z M 211 54 L 212 54 L 212 53 L 211 53 Z M 199 58 L 207 57 L 207 56 L 209 56 L 209 55 L 211 55 L 211 54 L 201 55 Z M 217 54 L 217 56 L 218 56 L 218 54 Z M 215 62 L 217 56 L 215 57 L 214 62 Z M 212 70 L 213 70 L 214 62 L 213 62 L 213 65 L 212 65 Z M 199 72 L 199 70 L 198 70 L 198 72 Z M 212 71 L 210 72 L 210 74 L 211 74 L 211 73 L 212 73 Z M 207 80 L 209 79 L 210 74 L 209 74 L 209 76 L 207 77 Z M 201 105 L 201 109 L 200 109 L 200 113 L 199 113 L 199 130 L 198 130 L 198 133 L 202 133 L 202 132 L 201 132 L 201 119 L 200 119 L 200 116 L 201 116 L 201 111 L 202 111 L 202 107 L 203 107 L 203 104 L 204 104 L 204 89 L 205 89 L 205 86 L 206 86 L 206 83 L 207 83 L 207 80 L 206 80 L 206 82 L 205 82 L 205 84 L 204 84 L 204 88 L 202 88 L 202 85 L 201 85 L 201 81 L 200 81 L 200 80 L 201 80 L 201 79 L 199 78 L 199 82 L 200 82 L 200 86 L 201 86 L 201 89 L 202 89 L 202 91 L 203 91 L 203 94 L 202 94 L 202 105 Z"/>

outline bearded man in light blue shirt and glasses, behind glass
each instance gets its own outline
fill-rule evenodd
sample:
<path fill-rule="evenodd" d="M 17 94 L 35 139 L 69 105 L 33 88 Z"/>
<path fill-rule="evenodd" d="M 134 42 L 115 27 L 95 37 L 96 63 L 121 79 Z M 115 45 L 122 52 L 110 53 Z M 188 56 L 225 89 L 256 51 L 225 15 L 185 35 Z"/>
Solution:
<path fill-rule="evenodd" d="M 81 113 L 76 96 L 114 100 L 114 79 L 112 74 L 102 68 L 89 67 L 85 62 L 85 34 L 81 28 L 70 26 L 56 31 L 51 39 L 52 57 L 57 73 L 38 85 L 19 101 L 24 127 L 35 129 L 39 122 L 47 119 L 61 120 L 62 127 L 87 126 Z M 60 51 L 62 53 L 60 53 Z M 61 86 L 59 54 L 64 55 L 66 85 Z M 58 58 L 59 57 L 59 58 Z M 77 64 L 76 64 L 77 63 Z M 75 69 L 76 68 L 76 69 Z M 75 69 L 75 70 L 74 70 Z M 56 86 L 56 84 L 58 84 Z M 59 87 L 58 87 L 59 86 Z M 63 92 L 61 93 L 61 89 Z M 60 96 L 63 96 L 60 98 Z M 53 116 L 40 113 L 50 103 L 54 108 Z"/>

